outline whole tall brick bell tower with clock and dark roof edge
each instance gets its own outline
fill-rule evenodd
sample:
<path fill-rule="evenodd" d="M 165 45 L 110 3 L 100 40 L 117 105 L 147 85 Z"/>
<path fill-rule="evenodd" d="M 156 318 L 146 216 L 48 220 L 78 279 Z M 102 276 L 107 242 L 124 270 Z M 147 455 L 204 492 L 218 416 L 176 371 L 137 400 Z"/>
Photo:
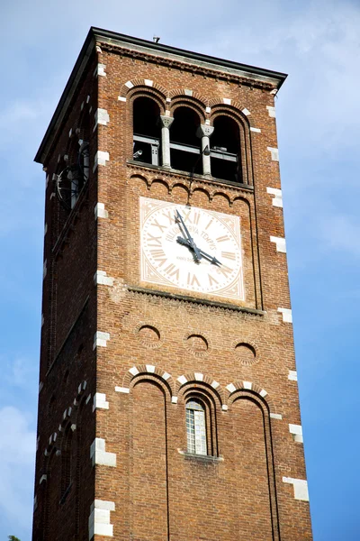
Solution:
<path fill-rule="evenodd" d="M 33 541 L 310 541 L 274 98 L 91 28 L 46 174 Z"/>

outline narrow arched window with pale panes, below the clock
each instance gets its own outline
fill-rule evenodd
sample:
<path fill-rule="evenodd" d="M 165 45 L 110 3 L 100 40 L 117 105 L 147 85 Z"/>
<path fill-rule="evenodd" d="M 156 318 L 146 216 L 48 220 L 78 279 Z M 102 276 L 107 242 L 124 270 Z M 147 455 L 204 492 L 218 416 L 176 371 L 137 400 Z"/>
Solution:
<path fill-rule="evenodd" d="M 187 451 L 207 454 L 205 409 L 198 400 L 186 403 Z"/>

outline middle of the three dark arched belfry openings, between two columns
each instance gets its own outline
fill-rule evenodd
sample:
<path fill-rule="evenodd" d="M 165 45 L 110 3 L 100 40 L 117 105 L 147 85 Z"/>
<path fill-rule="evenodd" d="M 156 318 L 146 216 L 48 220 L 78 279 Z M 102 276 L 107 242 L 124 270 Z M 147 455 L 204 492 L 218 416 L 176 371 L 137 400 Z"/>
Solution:
<path fill-rule="evenodd" d="M 199 160 L 201 139 L 197 135 L 200 117 L 190 107 L 175 109 L 174 122 L 170 128 L 171 167 L 175 170 L 202 173 Z"/>

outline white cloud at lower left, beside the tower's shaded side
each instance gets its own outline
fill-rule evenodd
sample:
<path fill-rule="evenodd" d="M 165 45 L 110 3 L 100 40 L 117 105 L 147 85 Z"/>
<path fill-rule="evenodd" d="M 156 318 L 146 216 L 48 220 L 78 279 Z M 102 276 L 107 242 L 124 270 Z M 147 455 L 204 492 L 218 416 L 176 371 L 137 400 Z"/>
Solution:
<path fill-rule="evenodd" d="M 0 510 L 14 527 L 31 524 L 36 434 L 31 419 L 13 407 L 0 409 Z"/>

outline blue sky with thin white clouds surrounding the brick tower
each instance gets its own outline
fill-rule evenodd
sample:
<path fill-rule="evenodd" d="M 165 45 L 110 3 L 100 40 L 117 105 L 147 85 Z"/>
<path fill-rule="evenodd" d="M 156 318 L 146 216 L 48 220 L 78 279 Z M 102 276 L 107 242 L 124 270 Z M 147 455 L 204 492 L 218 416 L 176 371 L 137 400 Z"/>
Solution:
<path fill-rule="evenodd" d="M 2 3 L 0 538 L 31 539 L 45 184 L 32 160 L 91 25 L 289 73 L 276 111 L 314 539 L 358 541 L 360 5 L 347 0 Z"/>

